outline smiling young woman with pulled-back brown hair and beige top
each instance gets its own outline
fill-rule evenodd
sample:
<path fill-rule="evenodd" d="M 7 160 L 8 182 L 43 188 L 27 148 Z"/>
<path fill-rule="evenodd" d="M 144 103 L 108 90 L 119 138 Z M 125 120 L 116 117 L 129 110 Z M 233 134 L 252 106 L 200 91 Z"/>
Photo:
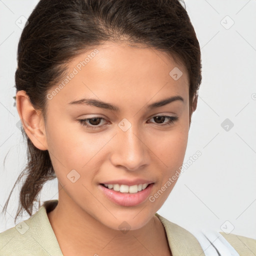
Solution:
<path fill-rule="evenodd" d="M 0 255 L 204 255 L 156 213 L 177 181 L 200 82 L 178 0 L 40 0 L 18 44 L 28 163 L 17 215 L 31 216 L 55 177 L 59 194 L 0 233 Z"/>

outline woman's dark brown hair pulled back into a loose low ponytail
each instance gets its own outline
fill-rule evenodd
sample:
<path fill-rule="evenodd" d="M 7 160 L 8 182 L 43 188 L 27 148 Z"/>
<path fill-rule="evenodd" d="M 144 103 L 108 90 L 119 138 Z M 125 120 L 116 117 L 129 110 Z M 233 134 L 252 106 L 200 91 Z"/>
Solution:
<path fill-rule="evenodd" d="M 183 3 L 184 4 L 184 3 Z M 106 41 L 141 45 L 170 54 L 189 75 L 189 123 L 192 100 L 201 83 L 200 47 L 185 7 L 178 0 L 40 0 L 28 18 L 17 49 L 16 91 L 24 90 L 46 120 L 46 95 L 66 75 L 68 61 Z M 43 184 L 55 178 L 48 150 L 27 141 L 26 176 L 15 216 L 32 214 Z"/>

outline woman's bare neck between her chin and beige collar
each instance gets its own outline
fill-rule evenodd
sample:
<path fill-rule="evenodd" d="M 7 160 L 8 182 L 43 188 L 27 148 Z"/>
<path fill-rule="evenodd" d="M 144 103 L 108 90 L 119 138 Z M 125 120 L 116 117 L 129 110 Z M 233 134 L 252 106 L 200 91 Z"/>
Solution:
<path fill-rule="evenodd" d="M 64 255 L 113 255 L 116 251 L 127 252 L 122 255 L 159 255 L 159 248 L 166 255 L 169 248 L 166 236 L 163 239 L 164 227 L 155 215 L 143 227 L 122 232 L 99 222 L 70 197 L 59 198 L 47 215 Z"/>

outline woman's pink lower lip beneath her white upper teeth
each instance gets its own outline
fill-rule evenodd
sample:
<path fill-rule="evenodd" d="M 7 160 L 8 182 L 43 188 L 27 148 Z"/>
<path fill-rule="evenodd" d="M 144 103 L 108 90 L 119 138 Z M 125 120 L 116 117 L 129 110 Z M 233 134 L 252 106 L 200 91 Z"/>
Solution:
<path fill-rule="evenodd" d="M 99 184 L 99 188 L 112 202 L 115 202 L 122 206 L 135 206 L 146 200 L 147 196 L 152 190 L 153 183 L 149 184 L 145 189 L 136 193 L 122 193 L 108 189 L 103 185 Z"/>

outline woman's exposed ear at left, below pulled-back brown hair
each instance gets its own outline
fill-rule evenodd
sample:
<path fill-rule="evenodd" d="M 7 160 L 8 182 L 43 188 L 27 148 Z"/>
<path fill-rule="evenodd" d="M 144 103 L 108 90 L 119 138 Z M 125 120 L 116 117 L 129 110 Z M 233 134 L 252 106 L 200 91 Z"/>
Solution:
<path fill-rule="evenodd" d="M 16 107 L 23 129 L 33 145 L 41 150 L 47 150 L 45 125 L 41 111 L 35 110 L 24 90 L 16 93 Z"/>

